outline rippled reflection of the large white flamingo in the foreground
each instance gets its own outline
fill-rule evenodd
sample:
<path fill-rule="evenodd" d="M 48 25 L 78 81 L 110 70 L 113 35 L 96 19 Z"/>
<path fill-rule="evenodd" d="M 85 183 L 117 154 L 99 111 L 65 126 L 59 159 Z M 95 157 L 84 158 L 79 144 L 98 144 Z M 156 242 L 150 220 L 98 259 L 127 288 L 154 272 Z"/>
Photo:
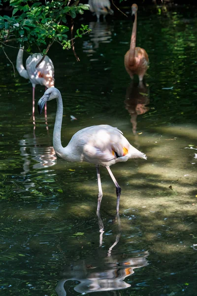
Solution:
<path fill-rule="evenodd" d="M 100 232 L 100 246 L 102 245 L 103 223 L 99 216 L 99 232 Z M 78 293 L 92 293 L 92 292 L 104 292 L 112 290 L 122 290 L 131 287 L 130 284 L 124 280 L 126 277 L 134 273 L 135 268 L 140 268 L 148 265 L 147 256 L 148 252 L 135 253 L 135 257 L 125 257 L 125 254 L 118 255 L 112 254 L 112 249 L 118 244 L 121 227 L 120 217 L 117 214 L 116 219 L 119 225 L 119 233 L 116 235 L 114 244 L 108 249 L 107 255 L 99 256 L 99 260 L 89 259 L 78 260 L 66 266 L 61 276 L 64 277 L 60 280 L 56 286 L 56 292 L 58 296 L 66 296 L 67 281 L 80 282 L 74 287 L 74 290 Z M 102 251 L 103 249 L 100 249 Z M 98 256 L 97 256 L 98 257 Z M 70 287 L 68 286 L 70 290 Z"/>

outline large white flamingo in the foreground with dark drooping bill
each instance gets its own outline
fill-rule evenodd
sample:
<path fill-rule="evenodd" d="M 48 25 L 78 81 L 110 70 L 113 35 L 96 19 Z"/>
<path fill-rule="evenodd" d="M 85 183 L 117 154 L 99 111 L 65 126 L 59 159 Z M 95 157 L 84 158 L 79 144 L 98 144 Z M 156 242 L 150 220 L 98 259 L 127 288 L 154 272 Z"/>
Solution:
<path fill-rule="evenodd" d="M 146 159 L 146 155 L 131 146 L 119 129 L 105 124 L 86 127 L 78 131 L 73 135 L 68 145 L 63 147 L 61 143 L 63 102 L 61 93 L 57 88 L 51 87 L 45 91 L 37 103 L 38 111 L 41 114 L 46 102 L 52 99 L 56 99 L 57 101 L 57 112 L 53 131 L 53 147 L 56 154 L 66 161 L 86 161 L 96 165 L 99 185 L 97 212 L 99 212 L 102 199 L 99 165 L 106 167 L 116 186 L 116 212 L 118 213 L 121 187 L 118 185 L 109 167 L 117 162 L 127 161 L 129 158 L 139 157 Z"/>

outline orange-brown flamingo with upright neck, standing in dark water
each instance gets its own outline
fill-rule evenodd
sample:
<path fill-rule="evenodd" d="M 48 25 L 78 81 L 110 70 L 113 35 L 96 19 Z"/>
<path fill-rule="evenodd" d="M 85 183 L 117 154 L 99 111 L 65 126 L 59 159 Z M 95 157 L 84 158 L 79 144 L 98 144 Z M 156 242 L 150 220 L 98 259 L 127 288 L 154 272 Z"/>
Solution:
<path fill-rule="evenodd" d="M 143 80 L 143 76 L 148 69 L 148 54 L 145 49 L 135 47 L 136 43 L 136 30 L 137 30 L 137 4 L 132 4 L 132 16 L 134 17 L 134 23 L 132 26 L 131 44 L 130 50 L 125 55 L 125 69 L 133 79 L 133 75 L 137 74 L 139 81 Z"/>

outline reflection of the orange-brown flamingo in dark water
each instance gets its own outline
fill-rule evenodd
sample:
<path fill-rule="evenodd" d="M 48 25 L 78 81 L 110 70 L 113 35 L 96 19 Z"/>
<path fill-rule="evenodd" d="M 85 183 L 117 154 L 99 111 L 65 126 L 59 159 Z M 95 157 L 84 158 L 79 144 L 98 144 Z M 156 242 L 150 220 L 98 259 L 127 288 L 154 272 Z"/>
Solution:
<path fill-rule="evenodd" d="M 126 92 L 125 108 L 131 115 L 133 135 L 137 135 L 137 116 L 149 111 L 150 108 L 146 106 L 149 103 L 149 90 L 146 83 L 143 81 L 139 81 L 139 83 L 131 81 Z"/>

